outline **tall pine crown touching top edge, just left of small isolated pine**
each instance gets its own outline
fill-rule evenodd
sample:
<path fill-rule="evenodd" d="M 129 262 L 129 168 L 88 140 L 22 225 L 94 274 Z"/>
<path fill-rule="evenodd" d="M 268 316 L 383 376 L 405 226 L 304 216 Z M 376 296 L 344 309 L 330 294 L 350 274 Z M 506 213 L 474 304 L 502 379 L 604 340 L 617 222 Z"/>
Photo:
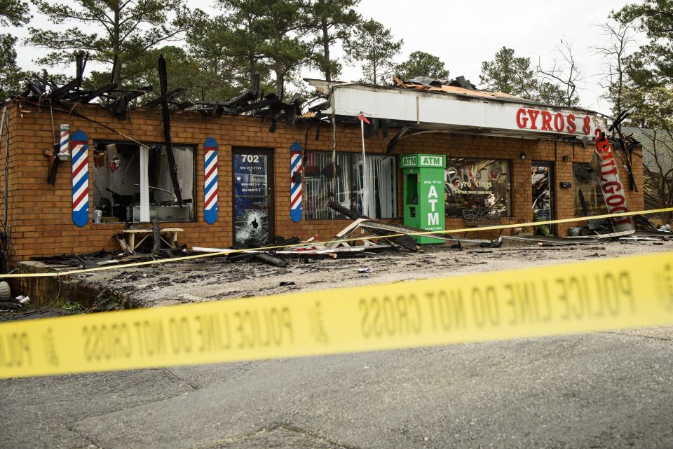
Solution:
<path fill-rule="evenodd" d="M 308 4 L 307 18 L 311 31 L 311 63 L 332 81 L 341 74 L 341 62 L 330 56 L 331 47 L 341 41 L 348 48 L 355 27 L 362 18 L 355 11 L 360 0 L 313 0 Z"/>

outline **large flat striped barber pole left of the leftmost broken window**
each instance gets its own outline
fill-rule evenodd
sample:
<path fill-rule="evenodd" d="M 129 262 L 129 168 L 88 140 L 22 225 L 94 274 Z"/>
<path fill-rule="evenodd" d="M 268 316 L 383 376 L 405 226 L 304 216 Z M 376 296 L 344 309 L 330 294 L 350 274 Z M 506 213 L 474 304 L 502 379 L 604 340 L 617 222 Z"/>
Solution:
<path fill-rule="evenodd" d="M 72 134 L 72 222 L 89 221 L 89 138 L 83 131 Z"/>

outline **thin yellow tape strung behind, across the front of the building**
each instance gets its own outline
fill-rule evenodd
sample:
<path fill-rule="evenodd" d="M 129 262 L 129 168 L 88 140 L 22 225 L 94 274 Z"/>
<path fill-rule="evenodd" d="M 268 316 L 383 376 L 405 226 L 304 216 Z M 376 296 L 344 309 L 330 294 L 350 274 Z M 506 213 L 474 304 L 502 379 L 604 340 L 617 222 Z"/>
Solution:
<path fill-rule="evenodd" d="M 578 221 L 590 221 L 590 220 L 602 220 L 602 219 L 613 219 L 618 216 L 634 216 L 634 215 L 645 215 L 645 214 L 659 214 L 661 212 L 673 212 L 673 207 L 663 207 L 661 209 L 649 209 L 649 210 L 639 210 L 634 212 L 622 212 L 620 214 L 603 214 L 603 215 L 593 215 L 593 216 L 583 216 L 583 217 L 573 217 L 571 219 L 557 219 L 557 220 L 546 220 L 546 221 L 533 221 L 529 223 L 512 223 L 506 225 L 494 225 L 494 226 L 480 226 L 479 228 L 463 228 L 463 229 L 445 229 L 445 230 L 424 230 L 415 233 L 393 233 L 388 235 L 369 235 L 361 237 L 353 237 L 348 239 L 341 240 L 331 240 L 331 243 L 339 242 L 362 242 L 364 240 L 379 240 L 383 238 L 390 237 L 401 237 L 402 235 L 443 235 L 449 233 L 477 233 L 487 230 L 501 230 L 501 229 L 512 229 L 512 228 L 528 228 L 530 226 L 544 226 L 552 225 L 559 223 L 576 223 Z M 461 240 L 460 237 L 456 237 L 456 240 Z M 230 249 L 227 251 L 218 251 L 214 253 L 207 254 L 194 254 L 192 256 L 181 256 L 173 258 L 162 258 L 157 259 L 156 261 L 144 261 L 144 262 L 133 262 L 133 263 L 120 263 L 120 264 L 111 264 L 104 265 L 97 268 L 86 268 L 83 270 L 67 270 L 67 271 L 55 271 L 55 272 L 30 272 L 30 273 L 13 273 L 7 275 L 0 275 L 0 278 L 16 278 L 16 277 L 60 277 L 67 275 L 79 275 L 86 272 L 94 271 L 107 271 L 107 270 L 119 270 L 122 268 L 133 268 L 140 267 L 144 265 L 158 265 L 160 263 L 170 263 L 170 262 L 179 262 L 179 261 L 189 261 L 198 258 L 205 257 L 215 257 L 215 256 L 227 256 L 229 254 L 244 253 L 250 251 L 269 251 L 271 249 L 283 249 L 283 248 L 295 248 L 295 247 L 306 247 L 306 243 L 295 243 L 295 244 L 280 244 L 276 246 L 267 246 L 260 248 L 247 248 L 247 249 Z"/>

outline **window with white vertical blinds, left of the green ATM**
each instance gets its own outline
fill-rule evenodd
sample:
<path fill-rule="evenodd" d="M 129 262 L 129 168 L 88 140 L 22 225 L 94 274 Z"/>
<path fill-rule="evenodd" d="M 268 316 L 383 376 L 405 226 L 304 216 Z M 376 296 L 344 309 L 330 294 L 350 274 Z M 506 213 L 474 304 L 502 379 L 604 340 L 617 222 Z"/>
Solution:
<path fill-rule="evenodd" d="M 387 219 L 397 216 L 395 158 L 367 155 L 363 177 L 362 155 L 337 153 L 335 184 L 334 169 L 332 153 L 329 151 L 306 151 L 304 204 L 307 220 L 345 219 L 345 216 L 327 207 L 329 200 L 372 218 Z M 365 188 L 362 185 L 363 179 Z M 367 207 L 363 211 L 362 198 L 365 191 Z"/>

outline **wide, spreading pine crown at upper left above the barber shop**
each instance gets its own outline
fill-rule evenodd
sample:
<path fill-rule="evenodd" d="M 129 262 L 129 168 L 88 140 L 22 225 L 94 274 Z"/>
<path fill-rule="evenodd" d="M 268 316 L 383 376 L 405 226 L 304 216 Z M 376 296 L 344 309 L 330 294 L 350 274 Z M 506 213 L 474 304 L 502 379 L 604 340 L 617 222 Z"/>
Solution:
<path fill-rule="evenodd" d="M 67 64 L 80 51 L 89 52 L 90 60 L 108 64 L 117 58 L 117 83 L 135 75 L 127 70 L 130 62 L 144 57 L 158 43 L 177 39 L 198 15 L 183 0 L 34 2 L 51 22 L 76 24 L 64 32 L 29 29 L 27 43 L 53 50 L 36 60 L 38 64 Z"/>

